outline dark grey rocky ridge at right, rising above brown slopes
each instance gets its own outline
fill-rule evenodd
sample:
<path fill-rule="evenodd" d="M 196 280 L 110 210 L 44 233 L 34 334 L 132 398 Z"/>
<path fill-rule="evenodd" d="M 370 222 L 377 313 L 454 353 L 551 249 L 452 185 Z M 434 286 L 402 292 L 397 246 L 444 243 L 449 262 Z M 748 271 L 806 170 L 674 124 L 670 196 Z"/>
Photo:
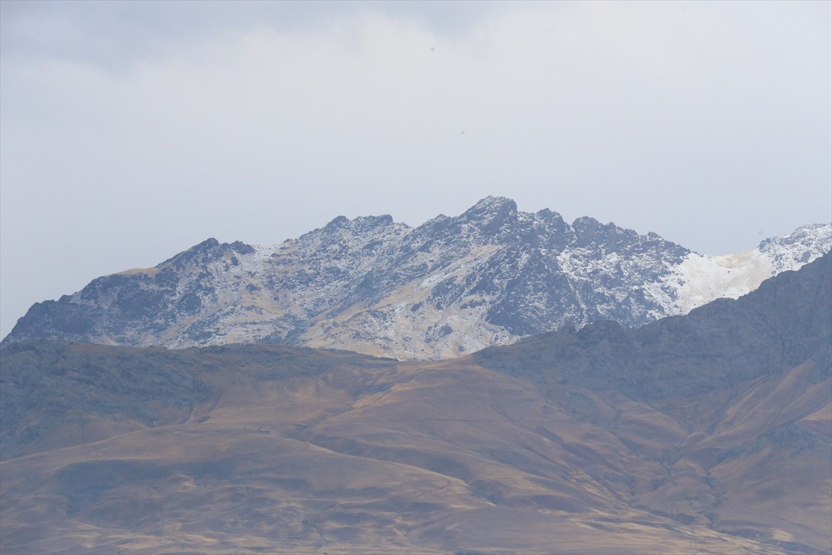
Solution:
<path fill-rule="evenodd" d="M 598 322 L 477 354 L 484 366 L 540 380 L 613 388 L 638 399 L 693 397 L 812 360 L 832 374 L 832 254 L 737 300 L 626 330 Z"/>

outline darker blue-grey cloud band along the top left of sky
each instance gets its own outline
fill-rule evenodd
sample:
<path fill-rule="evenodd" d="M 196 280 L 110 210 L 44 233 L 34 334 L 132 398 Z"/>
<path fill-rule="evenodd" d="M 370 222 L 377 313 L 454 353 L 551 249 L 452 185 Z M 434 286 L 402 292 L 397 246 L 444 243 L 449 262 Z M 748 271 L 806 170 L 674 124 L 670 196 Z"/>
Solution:
<path fill-rule="evenodd" d="M 310 31 L 344 17 L 377 12 L 418 22 L 440 34 L 458 34 L 476 25 L 488 13 L 505 7 L 504 2 L 465 0 L 4 0 L 0 41 L 4 57 L 71 60 L 124 72 L 141 60 L 175 56 L 176 48 L 183 44 L 210 42 L 223 34 L 255 28 Z"/>

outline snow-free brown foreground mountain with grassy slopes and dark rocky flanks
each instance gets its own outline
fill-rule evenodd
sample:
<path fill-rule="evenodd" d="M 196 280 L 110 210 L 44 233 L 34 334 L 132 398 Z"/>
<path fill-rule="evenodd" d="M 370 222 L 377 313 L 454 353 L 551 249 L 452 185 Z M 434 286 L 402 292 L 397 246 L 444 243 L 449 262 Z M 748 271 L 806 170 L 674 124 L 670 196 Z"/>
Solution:
<path fill-rule="evenodd" d="M 832 255 L 438 362 L 0 349 L 2 553 L 830 553 Z"/>

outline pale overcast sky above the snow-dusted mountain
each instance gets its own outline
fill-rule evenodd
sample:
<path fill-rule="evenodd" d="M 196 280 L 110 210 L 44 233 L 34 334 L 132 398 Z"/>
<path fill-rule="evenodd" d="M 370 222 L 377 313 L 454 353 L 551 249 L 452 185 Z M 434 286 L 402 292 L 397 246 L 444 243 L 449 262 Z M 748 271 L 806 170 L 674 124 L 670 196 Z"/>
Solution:
<path fill-rule="evenodd" d="M 0 2 L 0 336 L 208 237 L 488 195 L 715 255 L 832 221 L 832 2 Z"/>

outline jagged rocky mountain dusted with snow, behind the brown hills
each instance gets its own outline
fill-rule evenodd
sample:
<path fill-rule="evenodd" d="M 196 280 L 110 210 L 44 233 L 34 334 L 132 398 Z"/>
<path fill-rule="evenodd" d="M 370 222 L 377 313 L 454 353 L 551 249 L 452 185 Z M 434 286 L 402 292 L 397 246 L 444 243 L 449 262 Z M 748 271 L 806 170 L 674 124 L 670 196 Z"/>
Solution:
<path fill-rule="evenodd" d="M 686 314 L 830 246 L 832 225 L 807 225 L 744 253 L 700 255 L 654 233 L 588 217 L 568 225 L 489 196 L 416 228 L 339 216 L 273 247 L 206 240 L 33 305 L 2 344 L 274 343 L 443 359 L 567 324 Z"/>

